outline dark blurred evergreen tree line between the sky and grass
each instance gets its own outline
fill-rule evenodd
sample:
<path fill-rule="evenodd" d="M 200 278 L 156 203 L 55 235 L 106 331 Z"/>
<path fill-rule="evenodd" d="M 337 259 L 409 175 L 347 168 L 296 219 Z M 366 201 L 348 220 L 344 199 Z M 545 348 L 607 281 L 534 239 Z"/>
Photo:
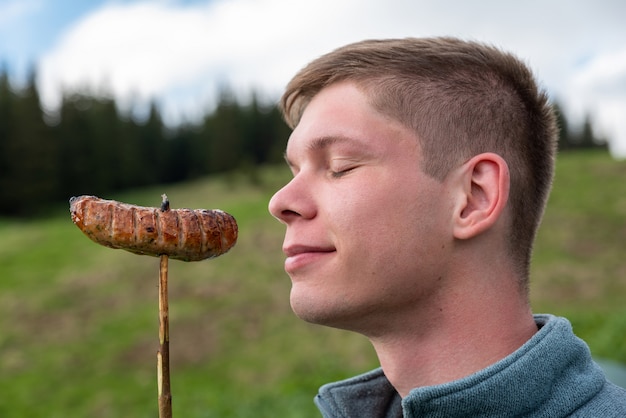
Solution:
<path fill-rule="evenodd" d="M 278 109 L 224 90 L 200 122 L 168 128 L 156 104 L 145 120 L 114 99 L 64 96 L 54 121 L 42 111 L 34 73 L 16 89 L 0 70 L 0 216 L 31 216 L 73 195 L 106 196 L 282 161 L 289 136 Z M 557 106 L 561 150 L 606 148 L 591 121 L 570 129 Z"/>

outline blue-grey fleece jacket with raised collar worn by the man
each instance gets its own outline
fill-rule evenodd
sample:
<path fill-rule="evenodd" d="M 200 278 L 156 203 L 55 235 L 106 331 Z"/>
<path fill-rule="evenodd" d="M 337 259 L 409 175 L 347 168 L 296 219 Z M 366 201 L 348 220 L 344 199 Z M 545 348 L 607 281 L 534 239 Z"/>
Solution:
<path fill-rule="evenodd" d="M 381 369 L 320 388 L 325 418 L 626 417 L 626 390 L 608 382 L 565 318 L 535 315 L 517 351 L 465 378 L 401 399 Z"/>

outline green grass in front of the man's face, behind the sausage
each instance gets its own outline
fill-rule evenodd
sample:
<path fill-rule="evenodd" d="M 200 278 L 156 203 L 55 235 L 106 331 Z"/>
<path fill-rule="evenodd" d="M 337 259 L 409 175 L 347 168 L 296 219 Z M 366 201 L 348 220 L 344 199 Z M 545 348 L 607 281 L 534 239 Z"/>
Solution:
<path fill-rule="evenodd" d="M 288 175 L 103 196 L 158 206 L 165 192 L 173 207 L 221 208 L 238 220 L 228 254 L 170 262 L 174 416 L 318 416 L 320 384 L 376 364 L 362 337 L 291 313 L 283 227 L 267 213 Z M 0 221 L 0 237 L 0 417 L 157 416 L 158 259 L 92 243 L 67 206 L 43 220 Z"/>

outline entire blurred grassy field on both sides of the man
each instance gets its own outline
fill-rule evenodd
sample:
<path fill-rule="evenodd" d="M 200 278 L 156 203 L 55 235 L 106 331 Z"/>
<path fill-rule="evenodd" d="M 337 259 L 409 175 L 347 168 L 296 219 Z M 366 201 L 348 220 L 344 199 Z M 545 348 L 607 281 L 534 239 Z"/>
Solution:
<path fill-rule="evenodd" d="M 287 176 L 271 168 L 255 182 L 229 175 L 104 196 L 157 206 L 165 192 L 173 207 L 219 207 L 239 222 L 227 255 L 170 262 L 175 417 L 318 417 L 320 384 L 377 365 L 363 337 L 290 311 L 283 229 L 266 210 Z M 535 249 L 533 307 L 568 316 L 594 355 L 623 363 L 625 253 L 626 163 L 563 155 Z M 157 416 L 158 267 L 93 244 L 67 206 L 0 220 L 0 417 Z"/>

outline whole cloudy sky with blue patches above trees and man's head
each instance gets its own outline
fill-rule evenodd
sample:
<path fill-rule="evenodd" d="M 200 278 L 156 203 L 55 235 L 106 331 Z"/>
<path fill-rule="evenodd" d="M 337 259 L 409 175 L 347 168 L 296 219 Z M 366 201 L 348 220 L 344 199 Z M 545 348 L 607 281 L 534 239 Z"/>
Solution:
<path fill-rule="evenodd" d="M 626 157 L 622 0 L 0 0 L 0 62 L 37 71 L 42 100 L 110 92 L 175 124 L 230 86 L 275 100 L 311 59 L 365 38 L 453 35 L 515 52 L 572 122 L 588 114 Z"/>

